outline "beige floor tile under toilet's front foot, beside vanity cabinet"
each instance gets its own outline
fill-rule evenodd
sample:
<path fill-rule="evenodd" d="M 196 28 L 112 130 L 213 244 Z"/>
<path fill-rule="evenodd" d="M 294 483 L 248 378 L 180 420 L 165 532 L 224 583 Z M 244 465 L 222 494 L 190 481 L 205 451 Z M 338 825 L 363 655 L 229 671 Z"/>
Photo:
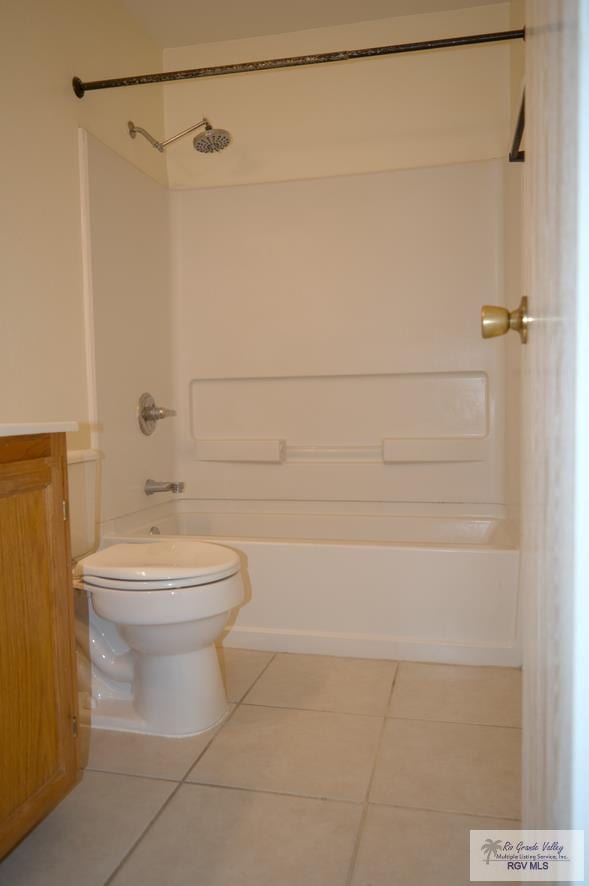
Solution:
<path fill-rule="evenodd" d="M 180 781 L 222 726 L 190 738 L 82 727 L 80 738 L 88 769 Z"/>

